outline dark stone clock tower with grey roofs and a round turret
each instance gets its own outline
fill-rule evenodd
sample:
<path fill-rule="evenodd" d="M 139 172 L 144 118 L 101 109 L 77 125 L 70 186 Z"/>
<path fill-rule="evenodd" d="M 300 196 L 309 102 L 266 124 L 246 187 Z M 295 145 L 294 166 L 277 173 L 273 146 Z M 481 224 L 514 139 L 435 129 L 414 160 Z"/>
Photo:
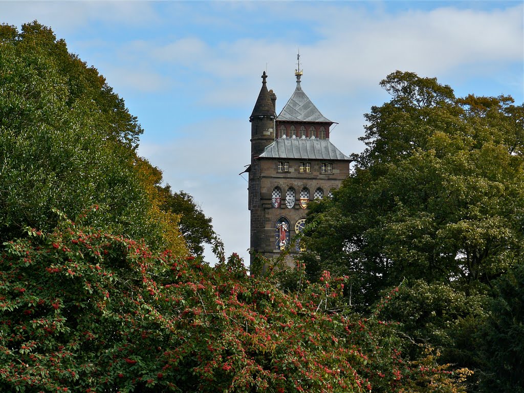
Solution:
<path fill-rule="evenodd" d="M 297 87 L 276 116 L 277 97 L 268 91 L 264 72 L 249 117 L 250 248 L 267 258 L 286 247 L 298 252 L 290 239 L 304 227 L 308 202 L 329 197 L 350 171 L 351 159 L 329 140 L 334 123 L 302 91 L 302 72 L 296 71 L 295 76 Z"/>

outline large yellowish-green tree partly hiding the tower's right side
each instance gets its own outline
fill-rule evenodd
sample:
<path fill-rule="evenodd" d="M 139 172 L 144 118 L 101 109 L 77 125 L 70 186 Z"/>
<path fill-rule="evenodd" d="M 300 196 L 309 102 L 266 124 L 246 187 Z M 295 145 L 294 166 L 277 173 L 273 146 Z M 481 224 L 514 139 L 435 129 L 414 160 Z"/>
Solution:
<path fill-rule="evenodd" d="M 524 257 L 524 105 L 457 99 L 408 72 L 381 85 L 392 99 L 366 115 L 354 171 L 311 205 L 309 277 L 350 276 L 346 295 L 363 312 L 407 279 L 386 318 L 445 361 L 481 367 L 472 350 L 493 281 Z"/>

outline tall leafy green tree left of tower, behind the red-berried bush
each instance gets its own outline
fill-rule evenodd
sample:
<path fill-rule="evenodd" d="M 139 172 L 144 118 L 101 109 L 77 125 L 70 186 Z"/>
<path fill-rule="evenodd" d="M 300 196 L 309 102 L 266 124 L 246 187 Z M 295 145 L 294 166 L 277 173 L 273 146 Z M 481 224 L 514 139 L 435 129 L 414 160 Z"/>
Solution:
<path fill-rule="evenodd" d="M 159 208 L 161 173 L 149 187 L 155 168 L 135 153 L 143 130 L 95 68 L 36 21 L 2 25 L 0 91 L 2 242 L 26 226 L 51 230 L 52 209 L 74 217 L 99 205 L 91 225 L 183 254 L 178 216 Z"/>

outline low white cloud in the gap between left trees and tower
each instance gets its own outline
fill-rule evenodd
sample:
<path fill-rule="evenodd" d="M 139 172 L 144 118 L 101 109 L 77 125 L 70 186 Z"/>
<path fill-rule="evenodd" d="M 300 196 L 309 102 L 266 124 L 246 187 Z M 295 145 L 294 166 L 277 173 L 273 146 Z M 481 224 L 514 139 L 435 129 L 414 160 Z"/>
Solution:
<path fill-rule="evenodd" d="M 228 254 L 248 260 L 247 183 L 238 173 L 249 163 L 249 123 L 210 120 L 191 124 L 185 137 L 162 144 L 141 144 L 138 153 L 163 170 L 174 191 L 193 195 L 213 218 Z M 208 250 L 209 252 L 209 250 Z M 211 254 L 206 259 L 213 261 Z"/>

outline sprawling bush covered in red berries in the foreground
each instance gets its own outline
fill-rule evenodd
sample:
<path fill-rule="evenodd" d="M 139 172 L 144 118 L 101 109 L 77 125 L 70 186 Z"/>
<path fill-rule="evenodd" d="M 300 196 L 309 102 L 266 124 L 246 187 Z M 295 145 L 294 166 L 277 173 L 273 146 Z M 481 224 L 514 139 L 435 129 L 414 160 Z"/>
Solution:
<path fill-rule="evenodd" d="M 463 391 L 431 354 L 403 360 L 378 311 L 330 311 L 343 278 L 284 294 L 236 255 L 211 268 L 59 215 L 0 253 L 3 391 Z"/>

